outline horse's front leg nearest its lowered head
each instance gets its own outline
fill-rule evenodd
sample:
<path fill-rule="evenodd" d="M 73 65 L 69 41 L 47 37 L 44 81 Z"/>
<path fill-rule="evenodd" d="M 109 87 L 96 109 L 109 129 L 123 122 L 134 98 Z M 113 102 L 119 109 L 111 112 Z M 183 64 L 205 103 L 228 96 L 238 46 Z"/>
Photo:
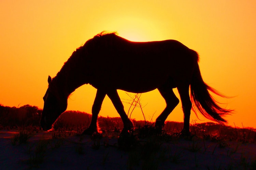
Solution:
<path fill-rule="evenodd" d="M 89 128 L 84 130 L 82 133 L 83 135 L 92 135 L 94 132 L 98 132 L 97 130 L 97 118 L 98 114 L 100 112 L 100 108 L 102 105 L 102 102 L 106 96 L 106 93 L 102 90 L 97 90 L 96 97 L 94 99 L 93 107 L 91 109 L 92 117 L 91 117 L 91 123 Z"/>

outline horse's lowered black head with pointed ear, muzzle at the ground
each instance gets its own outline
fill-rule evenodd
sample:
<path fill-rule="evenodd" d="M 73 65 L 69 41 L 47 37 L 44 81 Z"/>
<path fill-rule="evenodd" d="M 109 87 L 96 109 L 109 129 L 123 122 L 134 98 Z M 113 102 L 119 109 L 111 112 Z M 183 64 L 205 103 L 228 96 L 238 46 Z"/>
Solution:
<path fill-rule="evenodd" d="M 52 78 L 48 77 L 48 89 L 43 97 L 44 108 L 41 117 L 41 127 L 44 131 L 50 130 L 57 118 L 66 111 L 68 103 L 65 94 L 58 89 Z"/>

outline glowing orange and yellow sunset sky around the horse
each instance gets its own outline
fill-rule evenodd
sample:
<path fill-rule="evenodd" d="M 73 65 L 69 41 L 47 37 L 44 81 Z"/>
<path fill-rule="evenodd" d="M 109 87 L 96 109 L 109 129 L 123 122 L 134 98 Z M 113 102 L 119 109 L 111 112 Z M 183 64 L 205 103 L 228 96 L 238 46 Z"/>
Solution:
<path fill-rule="evenodd" d="M 202 77 L 231 99 L 229 125 L 254 127 L 256 120 L 256 1 L 0 1 L 0 104 L 43 107 L 47 77 L 54 77 L 72 52 L 103 30 L 134 41 L 176 39 L 200 54 Z M 125 101 L 129 97 L 118 91 Z M 176 90 L 175 93 L 177 94 Z M 91 113 L 96 89 L 84 85 L 68 110 Z M 147 120 L 165 107 L 157 90 L 141 96 Z M 128 111 L 128 104 L 124 104 Z M 118 116 L 106 97 L 100 116 Z M 142 120 L 140 109 L 132 118 Z M 200 116 L 203 121 L 208 121 Z M 183 121 L 181 104 L 167 120 Z M 194 113 L 191 121 L 198 120 Z"/>

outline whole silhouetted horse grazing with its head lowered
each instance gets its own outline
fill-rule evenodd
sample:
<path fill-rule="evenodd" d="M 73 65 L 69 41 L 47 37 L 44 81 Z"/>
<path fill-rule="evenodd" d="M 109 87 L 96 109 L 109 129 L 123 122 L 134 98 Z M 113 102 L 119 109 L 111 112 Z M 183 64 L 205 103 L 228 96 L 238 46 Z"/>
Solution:
<path fill-rule="evenodd" d="M 132 93 L 158 89 L 166 102 L 166 108 L 155 121 L 155 128 L 160 131 L 179 103 L 173 88 L 179 92 L 184 113 L 182 134 L 190 134 L 191 109 L 196 115 L 199 111 L 210 120 L 226 123 L 223 116 L 232 110 L 219 106 L 209 91 L 226 96 L 204 83 L 198 61 L 198 53 L 177 40 L 134 42 L 116 33 L 97 34 L 72 53 L 53 79 L 48 76 L 41 127 L 44 131 L 50 130 L 61 113 L 66 111 L 69 95 L 84 84 L 95 87 L 97 92 L 91 123 L 83 134 L 97 132 L 97 118 L 106 95 L 123 121 L 122 132 L 133 131 L 117 89 Z"/>

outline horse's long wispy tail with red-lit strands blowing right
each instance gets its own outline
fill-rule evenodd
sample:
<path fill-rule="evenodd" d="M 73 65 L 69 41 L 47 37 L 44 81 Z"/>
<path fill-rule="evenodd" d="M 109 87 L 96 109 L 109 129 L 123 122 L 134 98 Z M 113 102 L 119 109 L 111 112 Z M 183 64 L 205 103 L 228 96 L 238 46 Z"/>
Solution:
<path fill-rule="evenodd" d="M 226 123 L 227 121 L 223 119 L 222 116 L 231 113 L 232 110 L 219 106 L 217 104 L 218 102 L 210 95 L 209 91 L 218 96 L 228 98 L 204 83 L 197 64 L 190 84 L 190 98 L 193 103 L 192 110 L 196 113 L 196 116 L 197 109 L 207 119 L 219 123 Z"/>

